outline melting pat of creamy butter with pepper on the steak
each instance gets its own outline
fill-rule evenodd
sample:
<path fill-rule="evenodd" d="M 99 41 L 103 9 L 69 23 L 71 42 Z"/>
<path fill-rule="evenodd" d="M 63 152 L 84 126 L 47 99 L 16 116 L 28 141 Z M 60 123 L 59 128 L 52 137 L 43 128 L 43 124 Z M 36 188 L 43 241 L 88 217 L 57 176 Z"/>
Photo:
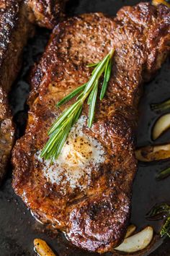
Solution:
<path fill-rule="evenodd" d="M 94 137 L 84 134 L 83 126 L 86 118 L 81 116 L 72 127 L 61 154 L 54 163 L 42 161 L 42 172 L 48 182 L 61 185 L 60 189 L 84 189 L 91 180 L 91 170 L 95 171 L 105 161 L 105 152 L 102 144 Z M 39 154 L 40 155 L 40 154 Z"/>

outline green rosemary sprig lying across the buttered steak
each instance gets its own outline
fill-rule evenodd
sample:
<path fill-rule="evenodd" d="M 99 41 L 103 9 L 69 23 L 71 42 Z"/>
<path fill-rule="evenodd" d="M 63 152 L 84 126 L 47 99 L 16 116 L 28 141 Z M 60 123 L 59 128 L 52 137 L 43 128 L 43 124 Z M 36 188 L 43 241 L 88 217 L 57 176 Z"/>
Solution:
<path fill-rule="evenodd" d="M 99 61 L 96 64 L 89 64 L 87 67 L 94 67 L 89 81 L 86 82 L 86 84 L 81 85 L 79 88 L 76 88 L 76 90 L 73 90 L 73 92 L 66 95 L 66 97 L 56 104 L 56 106 L 59 107 L 77 96 L 76 102 L 63 111 L 61 116 L 55 120 L 52 127 L 48 131 L 50 138 L 42 149 L 40 157 L 50 159 L 51 161 L 58 158 L 58 155 L 60 155 L 63 145 L 66 142 L 71 127 L 76 124 L 76 121 L 78 121 L 81 115 L 81 111 L 86 99 L 89 105 L 87 125 L 89 128 L 91 127 L 94 120 L 95 106 L 97 103 L 99 80 L 101 79 L 102 74 L 104 74 L 104 81 L 102 83 L 102 90 L 100 93 L 100 100 L 102 101 L 107 91 L 114 51 L 115 50 L 112 49 L 102 61 Z"/>

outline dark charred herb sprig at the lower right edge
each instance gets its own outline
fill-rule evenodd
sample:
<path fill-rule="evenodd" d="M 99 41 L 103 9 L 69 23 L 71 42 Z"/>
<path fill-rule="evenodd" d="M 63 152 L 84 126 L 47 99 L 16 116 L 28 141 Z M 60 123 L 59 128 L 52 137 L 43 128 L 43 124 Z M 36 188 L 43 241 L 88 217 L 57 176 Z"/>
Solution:
<path fill-rule="evenodd" d="M 160 236 L 170 237 L 170 205 L 162 203 L 154 206 L 147 214 L 147 218 L 150 220 L 161 220 L 165 219 L 163 226 L 161 226 Z"/>

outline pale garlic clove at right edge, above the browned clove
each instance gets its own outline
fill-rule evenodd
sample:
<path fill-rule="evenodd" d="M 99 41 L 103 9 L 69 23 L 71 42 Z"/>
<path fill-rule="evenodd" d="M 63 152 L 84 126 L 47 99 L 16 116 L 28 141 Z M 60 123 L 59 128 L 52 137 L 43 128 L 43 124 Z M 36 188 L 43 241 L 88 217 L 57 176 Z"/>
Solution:
<path fill-rule="evenodd" d="M 152 137 L 156 140 L 166 129 L 170 127 L 170 114 L 161 116 L 153 127 Z"/>

